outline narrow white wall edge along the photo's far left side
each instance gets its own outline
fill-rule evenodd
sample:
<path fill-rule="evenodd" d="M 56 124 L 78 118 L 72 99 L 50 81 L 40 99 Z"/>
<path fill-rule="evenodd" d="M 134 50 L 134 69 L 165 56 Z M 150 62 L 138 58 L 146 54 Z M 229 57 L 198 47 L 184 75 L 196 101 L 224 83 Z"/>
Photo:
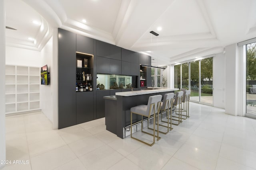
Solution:
<path fill-rule="evenodd" d="M 0 1 L 0 80 L 5 80 L 5 0 Z M 0 96 L 0 160 L 6 160 L 5 81 L 0 81 Z"/>

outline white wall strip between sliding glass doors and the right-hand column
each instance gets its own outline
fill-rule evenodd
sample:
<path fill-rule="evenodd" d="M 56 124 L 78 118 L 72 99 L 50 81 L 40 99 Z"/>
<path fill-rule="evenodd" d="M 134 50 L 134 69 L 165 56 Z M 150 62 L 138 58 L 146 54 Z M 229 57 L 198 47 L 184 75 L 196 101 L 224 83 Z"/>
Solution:
<path fill-rule="evenodd" d="M 218 53 L 213 59 L 214 107 L 225 108 L 225 55 Z"/>

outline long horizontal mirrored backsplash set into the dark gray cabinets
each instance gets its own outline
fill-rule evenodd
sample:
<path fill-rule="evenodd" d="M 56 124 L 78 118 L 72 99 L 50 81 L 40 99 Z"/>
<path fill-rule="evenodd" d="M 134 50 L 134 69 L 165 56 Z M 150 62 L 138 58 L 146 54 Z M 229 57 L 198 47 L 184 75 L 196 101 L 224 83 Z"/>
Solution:
<path fill-rule="evenodd" d="M 138 76 L 97 74 L 97 90 L 137 88 Z"/>

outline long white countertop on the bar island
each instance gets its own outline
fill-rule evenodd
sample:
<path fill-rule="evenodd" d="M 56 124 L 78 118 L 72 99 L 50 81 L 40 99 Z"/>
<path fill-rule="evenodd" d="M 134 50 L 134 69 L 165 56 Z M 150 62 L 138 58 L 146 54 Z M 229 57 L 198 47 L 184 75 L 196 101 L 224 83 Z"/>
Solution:
<path fill-rule="evenodd" d="M 153 90 L 139 90 L 139 91 L 130 91 L 130 92 L 116 92 L 116 96 L 136 96 L 142 94 L 152 94 L 152 93 L 160 93 L 160 92 L 170 92 L 180 90 L 179 88 L 162 88 L 162 89 L 153 89 Z"/>

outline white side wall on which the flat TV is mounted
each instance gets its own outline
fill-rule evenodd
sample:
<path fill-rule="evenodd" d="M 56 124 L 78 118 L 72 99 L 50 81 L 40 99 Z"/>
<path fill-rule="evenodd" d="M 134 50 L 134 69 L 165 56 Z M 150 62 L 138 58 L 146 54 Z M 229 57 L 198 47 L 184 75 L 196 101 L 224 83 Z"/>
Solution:
<path fill-rule="evenodd" d="M 50 72 L 50 80 L 51 77 L 51 70 L 52 70 L 52 38 L 46 43 L 44 48 L 41 51 L 41 58 L 42 62 L 40 63 L 41 66 L 47 64 L 48 72 Z M 40 95 L 41 95 L 41 109 L 42 112 L 53 122 L 53 107 L 52 107 L 52 87 L 51 82 L 48 86 L 40 85 Z"/>

